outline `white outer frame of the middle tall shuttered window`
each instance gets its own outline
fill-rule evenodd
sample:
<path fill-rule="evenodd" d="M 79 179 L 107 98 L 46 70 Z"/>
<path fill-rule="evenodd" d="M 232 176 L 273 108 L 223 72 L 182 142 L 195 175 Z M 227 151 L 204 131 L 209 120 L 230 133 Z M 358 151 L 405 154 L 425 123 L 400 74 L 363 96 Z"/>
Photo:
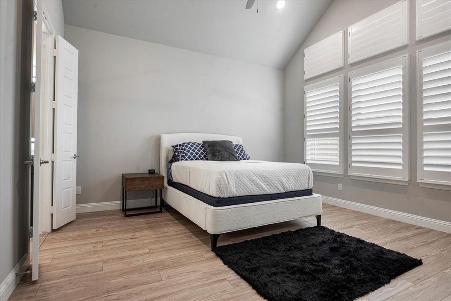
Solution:
<path fill-rule="evenodd" d="M 365 168 L 368 173 L 359 172 L 357 167 L 352 167 L 352 78 L 360 77 L 374 72 L 379 72 L 384 69 L 399 66 L 402 68 L 402 166 L 403 168 L 397 175 L 380 175 L 374 172 L 386 171 L 382 168 Z M 409 168 L 409 55 L 385 60 L 383 62 L 373 64 L 367 67 L 355 69 L 348 73 L 348 175 L 351 179 L 365 180 L 370 182 L 381 182 L 397 185 L 408 185 L 410 181 Z M 394 132 L 394 130 L 393 130 Z M 389 131 L 387 132 L 389 134 Z M 371 173 L 371 171 L 373 173 Z M 392 170 L 393 171 L 393 170 Z"/>

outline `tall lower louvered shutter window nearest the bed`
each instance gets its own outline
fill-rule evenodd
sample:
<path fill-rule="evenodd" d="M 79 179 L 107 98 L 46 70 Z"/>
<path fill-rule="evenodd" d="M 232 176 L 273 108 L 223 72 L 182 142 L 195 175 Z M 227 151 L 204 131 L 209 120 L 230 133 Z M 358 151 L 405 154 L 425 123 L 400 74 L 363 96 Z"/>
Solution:
<path fill-rule="evenodd" d="M 342 76 L 305 86 L 304 158 L 316 174 L 343 174 L 342 87 Z"/>

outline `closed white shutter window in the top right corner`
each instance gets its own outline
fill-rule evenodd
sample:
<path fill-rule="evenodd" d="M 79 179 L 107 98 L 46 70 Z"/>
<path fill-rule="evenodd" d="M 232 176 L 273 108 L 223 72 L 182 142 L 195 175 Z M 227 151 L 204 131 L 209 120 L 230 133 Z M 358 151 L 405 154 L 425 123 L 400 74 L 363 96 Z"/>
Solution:
<path fill-rule="evenodd" d="M 418 0 L 416 3 L 416 40 L 451 29 L 451 0 Z"/>

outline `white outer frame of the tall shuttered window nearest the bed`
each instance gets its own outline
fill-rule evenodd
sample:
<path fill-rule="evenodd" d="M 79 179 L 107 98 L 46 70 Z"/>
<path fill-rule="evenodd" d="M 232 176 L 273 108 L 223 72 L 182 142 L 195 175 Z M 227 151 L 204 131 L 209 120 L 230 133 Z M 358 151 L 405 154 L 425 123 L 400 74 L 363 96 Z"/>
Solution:
<path fill-rule="evenodd" d="M 307 164 L 307 90 L 315 90 L 319 89 L 321 87 L 336 84 L 338 83 L 338 168 L 337 171 L 327 170 L 322 167 L 326 167 L 327 164 Z M 343 178 L 343 139 L 344 139 L 344 131 L 343 131 L 343 106 L 344 106 L 344 100 L 343 100 L 343 85 L 344 85 L 344 76 L 338 75 L 333 76 L 321 81 L 317 81 L 314 83 L 310 83 L 308 85 L 304 86 L 304 98 L 303 98 L 303 105 L 304 105 L 304 164 L 308 165 L 311 169 L 314 175 L 318 176 L 328 176 L 328 177 L 338 177 Z"/>

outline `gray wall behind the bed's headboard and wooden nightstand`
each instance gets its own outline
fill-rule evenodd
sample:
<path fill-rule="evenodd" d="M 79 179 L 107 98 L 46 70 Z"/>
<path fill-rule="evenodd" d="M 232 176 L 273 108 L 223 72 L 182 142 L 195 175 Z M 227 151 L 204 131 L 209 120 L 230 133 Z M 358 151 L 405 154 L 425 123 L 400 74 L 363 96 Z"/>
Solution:
<path fill-rule="evenodd" d="M 159 169 L 159 134 L 241 136 L 283 160 L 283 71 L 68 26 L 79 50 L 77 204 L 119 201 L 121 174 Z"/>

